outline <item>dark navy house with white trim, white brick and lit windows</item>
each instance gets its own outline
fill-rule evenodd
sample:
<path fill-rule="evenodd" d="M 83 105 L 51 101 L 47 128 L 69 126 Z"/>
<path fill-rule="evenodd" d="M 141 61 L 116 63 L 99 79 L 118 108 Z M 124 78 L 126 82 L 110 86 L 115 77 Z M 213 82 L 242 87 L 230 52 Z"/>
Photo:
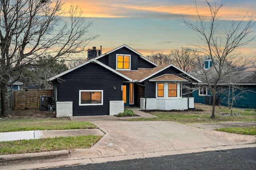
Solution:
<path fill-rule="evenodd" d="M 198 79 L 175 65 L 160 65 L 128 45 L 91 58 L 48 79 L 56 116 L 117 115 L 124 107 L 147 110 L 194 108 L 182 84 Z"/>

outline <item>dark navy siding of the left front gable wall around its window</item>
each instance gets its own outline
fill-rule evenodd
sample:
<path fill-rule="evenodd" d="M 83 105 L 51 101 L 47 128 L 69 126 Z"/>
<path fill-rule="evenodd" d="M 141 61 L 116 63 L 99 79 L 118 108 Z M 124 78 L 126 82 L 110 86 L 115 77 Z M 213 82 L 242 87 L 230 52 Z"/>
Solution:
<path fill-rule="evenodd" d="M 58 101 L 73 101 L 73 116 L 109 115 L 109 101 L 122 100 L 122 77 L 98 64 L 88 63 L 62 79 Z M 103 90 L 103 105 L 79 106 L 79 90 Z"/>

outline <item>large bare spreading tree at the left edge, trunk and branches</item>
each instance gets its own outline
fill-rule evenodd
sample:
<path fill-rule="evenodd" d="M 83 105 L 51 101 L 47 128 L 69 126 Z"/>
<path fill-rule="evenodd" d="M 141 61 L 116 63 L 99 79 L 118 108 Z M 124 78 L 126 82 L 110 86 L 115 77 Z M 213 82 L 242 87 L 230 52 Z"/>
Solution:
<path fill-rule="evenodd" d="M 38 57 L 53 60 L 86 51 L 91 36 L 78 6 L 66 13 L 62 0 L 0 0 L 0 86 L 2 116 L 10 115 L 7 87 L 10 77 L 20 79 L 25 68 L 39 66 Z M 48 61 L 50 62 L 50 61 Z M 41 65 L 46 65 L 42 63 Z"/>

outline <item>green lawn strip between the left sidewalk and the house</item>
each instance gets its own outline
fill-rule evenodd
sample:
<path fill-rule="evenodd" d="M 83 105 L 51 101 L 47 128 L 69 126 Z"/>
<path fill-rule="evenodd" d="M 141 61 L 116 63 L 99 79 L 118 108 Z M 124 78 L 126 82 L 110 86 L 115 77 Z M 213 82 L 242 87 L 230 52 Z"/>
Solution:
<path fill-rule="evenodd" d="M 0 119 L 0 132 L 97 128 L 88 122 L 56 119 Z"/>

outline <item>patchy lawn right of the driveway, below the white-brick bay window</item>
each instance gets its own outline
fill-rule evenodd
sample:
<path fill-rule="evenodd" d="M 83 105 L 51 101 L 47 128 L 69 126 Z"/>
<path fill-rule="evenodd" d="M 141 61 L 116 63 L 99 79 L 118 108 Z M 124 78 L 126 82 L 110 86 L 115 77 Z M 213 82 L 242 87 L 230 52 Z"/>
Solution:
<path fill-rule="evenodd" d="M 214 123 L 228 121 L 256 121 L 256 111 L 249 109 L 232 109 L 232 113 L 241 116 L 220 116 L 221 113 L 231 113 L 227 107 L 215 107 L 215 119 L 211 119 L 212 106 L 195 103 L 195 111 L 154 111 L 149 112 L 157 117 L 127 119 L 127 121 L 174 121 L 178 123 Z"/>

